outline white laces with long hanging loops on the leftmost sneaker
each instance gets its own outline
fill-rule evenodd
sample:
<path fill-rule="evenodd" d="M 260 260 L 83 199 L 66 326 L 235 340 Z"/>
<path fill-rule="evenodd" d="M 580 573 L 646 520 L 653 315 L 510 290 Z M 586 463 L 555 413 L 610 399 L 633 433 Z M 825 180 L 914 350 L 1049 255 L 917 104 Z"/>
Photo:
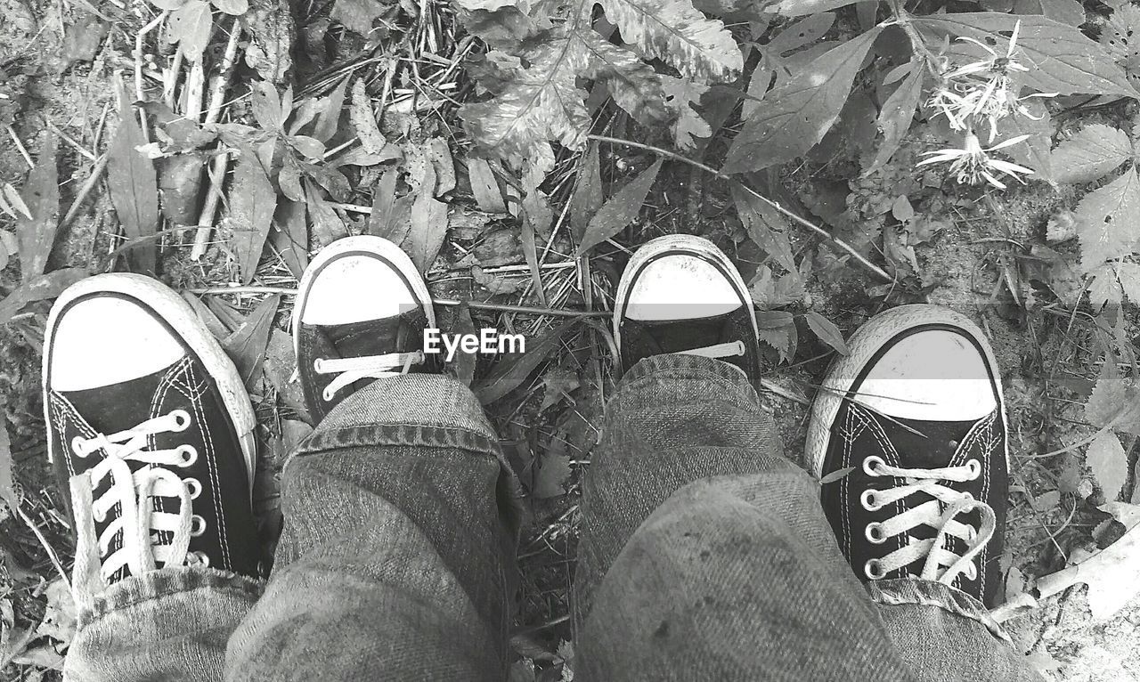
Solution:
<path fill-rule="evenodd" d="M 197 450 L 189 445 L 173 449 L 145 449 L 148 437 L 185 431 L 189 423 L 189 414 L 185 409 L 176 409 L 119 433 L 72 440 L 72 450 L 78 457 L 103 453 L 98 464 L 71 479 L 72 505 L 79 526 L 72 578 L 78 599 L 85 601 L 100 592 L 123 567 L 137 576 L 154 570 L 157 561 L 164 566 L 209 565 L 204 554 L 188 552 L 190 537 L 201 535 L 205 529 L 205 520 L 193 514 L 192 510 L 193 500 L 202 492 L 202 484 L 193 478 L 179 478 L 168 469 L 194 464 Z M 152 466 L 131 472 L 128 461 L 145 462 Z M 95 489 L 108 477 L 109 488 L 95 498 Z M 152 497 L 177 497 L 178 512 L 155 511 Z M 106 519 L 115 505 L 119 505 L 119 515 L 96 541 L 96 521 Z M 161 542 L 158 531 L 173 536 L 169 542 Z M 99 558 L 107 553 L 116 535 L 121 536 L 121 546 L 100 566 Z"/>

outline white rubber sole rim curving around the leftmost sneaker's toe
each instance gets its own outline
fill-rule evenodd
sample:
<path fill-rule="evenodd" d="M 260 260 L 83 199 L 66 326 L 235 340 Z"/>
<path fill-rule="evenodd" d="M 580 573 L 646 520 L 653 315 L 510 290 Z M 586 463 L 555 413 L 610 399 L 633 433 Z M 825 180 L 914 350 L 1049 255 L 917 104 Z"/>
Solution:
<path fill-rule="evenodd" d="M 253 428 L 256 419 L 253 415 L 253 405 L 250 403 L 250 395 L 245 390 L 242 376 L 234 367 L 233 360 L 221 349 L 218 340 L 213 338 L 202 319 L 190 308 L 189 303 L 182 300 L 173 290 L 157 279 L 144 275 L 130 273 L 109 273 L 106 275 L 95 275 L 82 279 L 67 287 L 63 294 L 51 306 L 48 315 L 48 325 L 43 334 L 43 348 L 52 346 L 56 327 L 59 322 L 59 314 L 72 301 L 97 293 L 117 293 L 128 295 L 146 303 L 165 322 L 174 333 L 185 342 L 190 350 L 202 360 L 206 372 L 213 377 L 221 393 L 222 404 L 234 421 L 237 431 L 238 443 L 242 446 L 242 455 L 245 457 L 245 466 L 250 477 L 250 492 L 253 490 L 253 476 L 256 470 L 258 449 L 253 437 Z M 98 362 L 98 358 L 92 358 Z M 43 354 L 43 419 L 48 420 L 48 376 L 50 375 L 50 357 L 47 350 Z M 52 461 L 55 453 L 51 449 L 51 439 L 48 439 L 48 460 Z"/>

